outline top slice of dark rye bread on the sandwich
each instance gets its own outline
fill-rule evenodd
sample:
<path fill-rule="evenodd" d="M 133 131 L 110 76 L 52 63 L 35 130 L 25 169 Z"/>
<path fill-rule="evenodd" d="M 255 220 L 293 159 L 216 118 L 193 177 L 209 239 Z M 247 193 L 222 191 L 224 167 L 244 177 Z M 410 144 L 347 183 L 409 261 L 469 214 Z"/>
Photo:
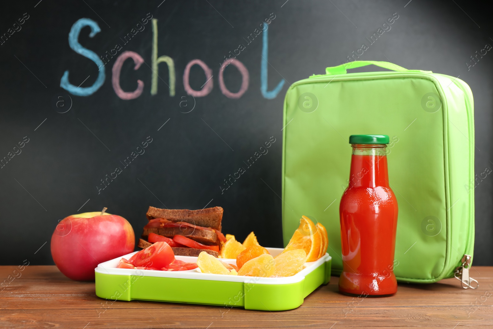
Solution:
<path fill-rule="evenodd" d="M 221 207 L 212 207 L 201 210 L 188 209 L 161 209 L 149 207 L 147 219 L 165 218 L 173 221 L 184 221 L 190 224 L 211 227 L 221 230 L 223 209 Z"/>

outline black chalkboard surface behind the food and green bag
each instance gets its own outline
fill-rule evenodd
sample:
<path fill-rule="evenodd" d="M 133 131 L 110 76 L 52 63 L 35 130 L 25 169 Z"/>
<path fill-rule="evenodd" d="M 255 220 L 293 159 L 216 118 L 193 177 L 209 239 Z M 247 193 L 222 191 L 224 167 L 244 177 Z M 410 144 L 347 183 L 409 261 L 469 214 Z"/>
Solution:
<path fill-rule="evenodd" d="M 242 240 L 254 230 L 261 244 L 282 247 L 278 195 L 285 91 L 294 81 L 346 61 L 393 13 L 399 18 L 391 30 L 360 60 L 388 58 L 408 69 L 459 76 L 467 82 L 475 101 L 475 170 L 491 168 L 493 53 L 489 51 L 469 71 L 466 65 L 486 43 L 493 45 L 490 10 L 471 1 L 408 1 L 33 0 L 3 5 L 0 34 L 24 13 L 30 18 L 0 46 L 0 158 L 24 136 L 30 141 L 0 169 L 0 246 L 8 251 L 0 263 L 19 264 L 27 258 L 31 264 L 52 264 L 49 241 L 58 221 L 103 207 L 128 219 L 140 235 L 149 205 L 221 206 L 223 232 Z M 81 87 L 92 85 L 98 75 L 91 60 L 69 47 L 75 21 L 86 17 L 98 23 L 101 32 L 90 38 L 86 27 L 79 42 L 101 55 L 121 43 L 119 38 L 147 13 L 158 19 L 158 56 L 175 61 L 176 96 L 169 96 L 161 79 L 158 94 L 150 95 L 149 22 L 119 52 L 135 51 L 147 63 L 134 71 L 127 60 L 121 71 L 126 91 L 137 87 L 137 79 L 144 82 L 139 98 L 125 101 L 116 96 L 111 85 L 114 58 L 106 65 L 106 80 L 97 92 L 71 95 L 70 111 L 57 113 L 61 110 L 53 106 L 53 99 L 65 92 L 60 79 L 66 70 L 75 85 L 89 76 Z M 225 97 L 219 89 L 219 63 L 271 13 L 276 18 L 268 29 L 269 90 L 284 78 L 282 91 L 272 100 L 260 92 L 260 35 L 237 57 L 248 69 L 248 90 L 237 100 Z M 208 96 L 195 98 L 194 110 L 182 113 L 193 105 L 191 97 L 182 98 L 183 70 L 193 59 L 212 69 L 214 87 Z M 168 83 L 165 64 L 159 65 L 158 74 Z M 224 78 L 231 91 L 239 90 L 238 70 L 227 68 Z M 198 90 L 204 82 L 203 71 L 194 66 L 191 87 Z M 188 107 L 182 103 L 180 108 L 183 100 Z M 147 136 L 153 142 L 145 153 L 98 194 L 100 180 Z M 223 180 L 271 136 L 277 140 L 269 153 L 221 194 Z M 475 193 L 474 262 L 493 265 L 491 175 L 477 184 Z"/>

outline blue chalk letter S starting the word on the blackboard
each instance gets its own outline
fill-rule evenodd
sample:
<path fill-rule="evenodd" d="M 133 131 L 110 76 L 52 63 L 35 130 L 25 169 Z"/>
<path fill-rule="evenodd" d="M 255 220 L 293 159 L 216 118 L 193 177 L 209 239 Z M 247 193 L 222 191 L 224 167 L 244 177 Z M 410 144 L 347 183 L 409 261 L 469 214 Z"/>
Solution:
<path fill-rule="evenodd" d="M 98 90 L 105 82 L 105 64 L 99 56 L 89 49 L 84 48 L 78 41 L 80 30 L 83 27 L 89 26 L 91 28 L 91 33 L 89 37 L 94 37 L 98 32 L 101 32 L 98 23 L 89 18 L 81 18 L 72 25 L 69 33 L 69 45 L 77 54 L 81 54 L 84 57 L 89 58 L 91 61 L 96 63 L 99 68 L 98 78 L 94 84 L 90 87 L 77 87 L 69 82 L 69 71 L 63 73 L 62 79 L 60 80 L 60 87 L 70 92 L 70 94 L 77 96 L 89 96 L 92 95 L 96 90 Z"/>

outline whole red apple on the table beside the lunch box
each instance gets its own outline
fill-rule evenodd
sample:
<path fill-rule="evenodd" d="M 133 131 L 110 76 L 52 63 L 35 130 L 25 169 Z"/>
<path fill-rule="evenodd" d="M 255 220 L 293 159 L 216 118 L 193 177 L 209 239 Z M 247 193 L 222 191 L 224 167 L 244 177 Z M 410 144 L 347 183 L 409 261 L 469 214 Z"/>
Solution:
<path fill-rule="evenodd" d="M 94 280 L 99 263 L 134 251 L 132 225 L 123 217 L 101 212 L 71 215 L 51 236 L 51 256 L 72 280 Z"/>

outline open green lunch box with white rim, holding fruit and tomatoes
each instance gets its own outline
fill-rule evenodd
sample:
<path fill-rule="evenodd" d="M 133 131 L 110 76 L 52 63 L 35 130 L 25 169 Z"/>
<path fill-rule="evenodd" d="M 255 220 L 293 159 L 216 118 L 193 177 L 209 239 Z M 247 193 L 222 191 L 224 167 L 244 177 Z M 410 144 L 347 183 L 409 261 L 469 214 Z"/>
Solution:
<path fill-rule="evenodd" d="M 272 256 L 283 249 L 267 248 Z M 122 256 L 129 259 L 137 252 Z M 111 301 L 150 300 L 174 303 L 217 305 L 227 308 L 282 311 L 297 308 L 311 292 L 330 280 L 332 257 L 325 254 L 307 262 L 297 274 L 281 278 L 263 278 L 187 271 L 155 271 L 116 268 L 122 257 L 96 267 L 96 295 Z M 197 257 L 175 256 L 185 262 Z M 222 259 L 236 264 L 236 259 Z"/>

